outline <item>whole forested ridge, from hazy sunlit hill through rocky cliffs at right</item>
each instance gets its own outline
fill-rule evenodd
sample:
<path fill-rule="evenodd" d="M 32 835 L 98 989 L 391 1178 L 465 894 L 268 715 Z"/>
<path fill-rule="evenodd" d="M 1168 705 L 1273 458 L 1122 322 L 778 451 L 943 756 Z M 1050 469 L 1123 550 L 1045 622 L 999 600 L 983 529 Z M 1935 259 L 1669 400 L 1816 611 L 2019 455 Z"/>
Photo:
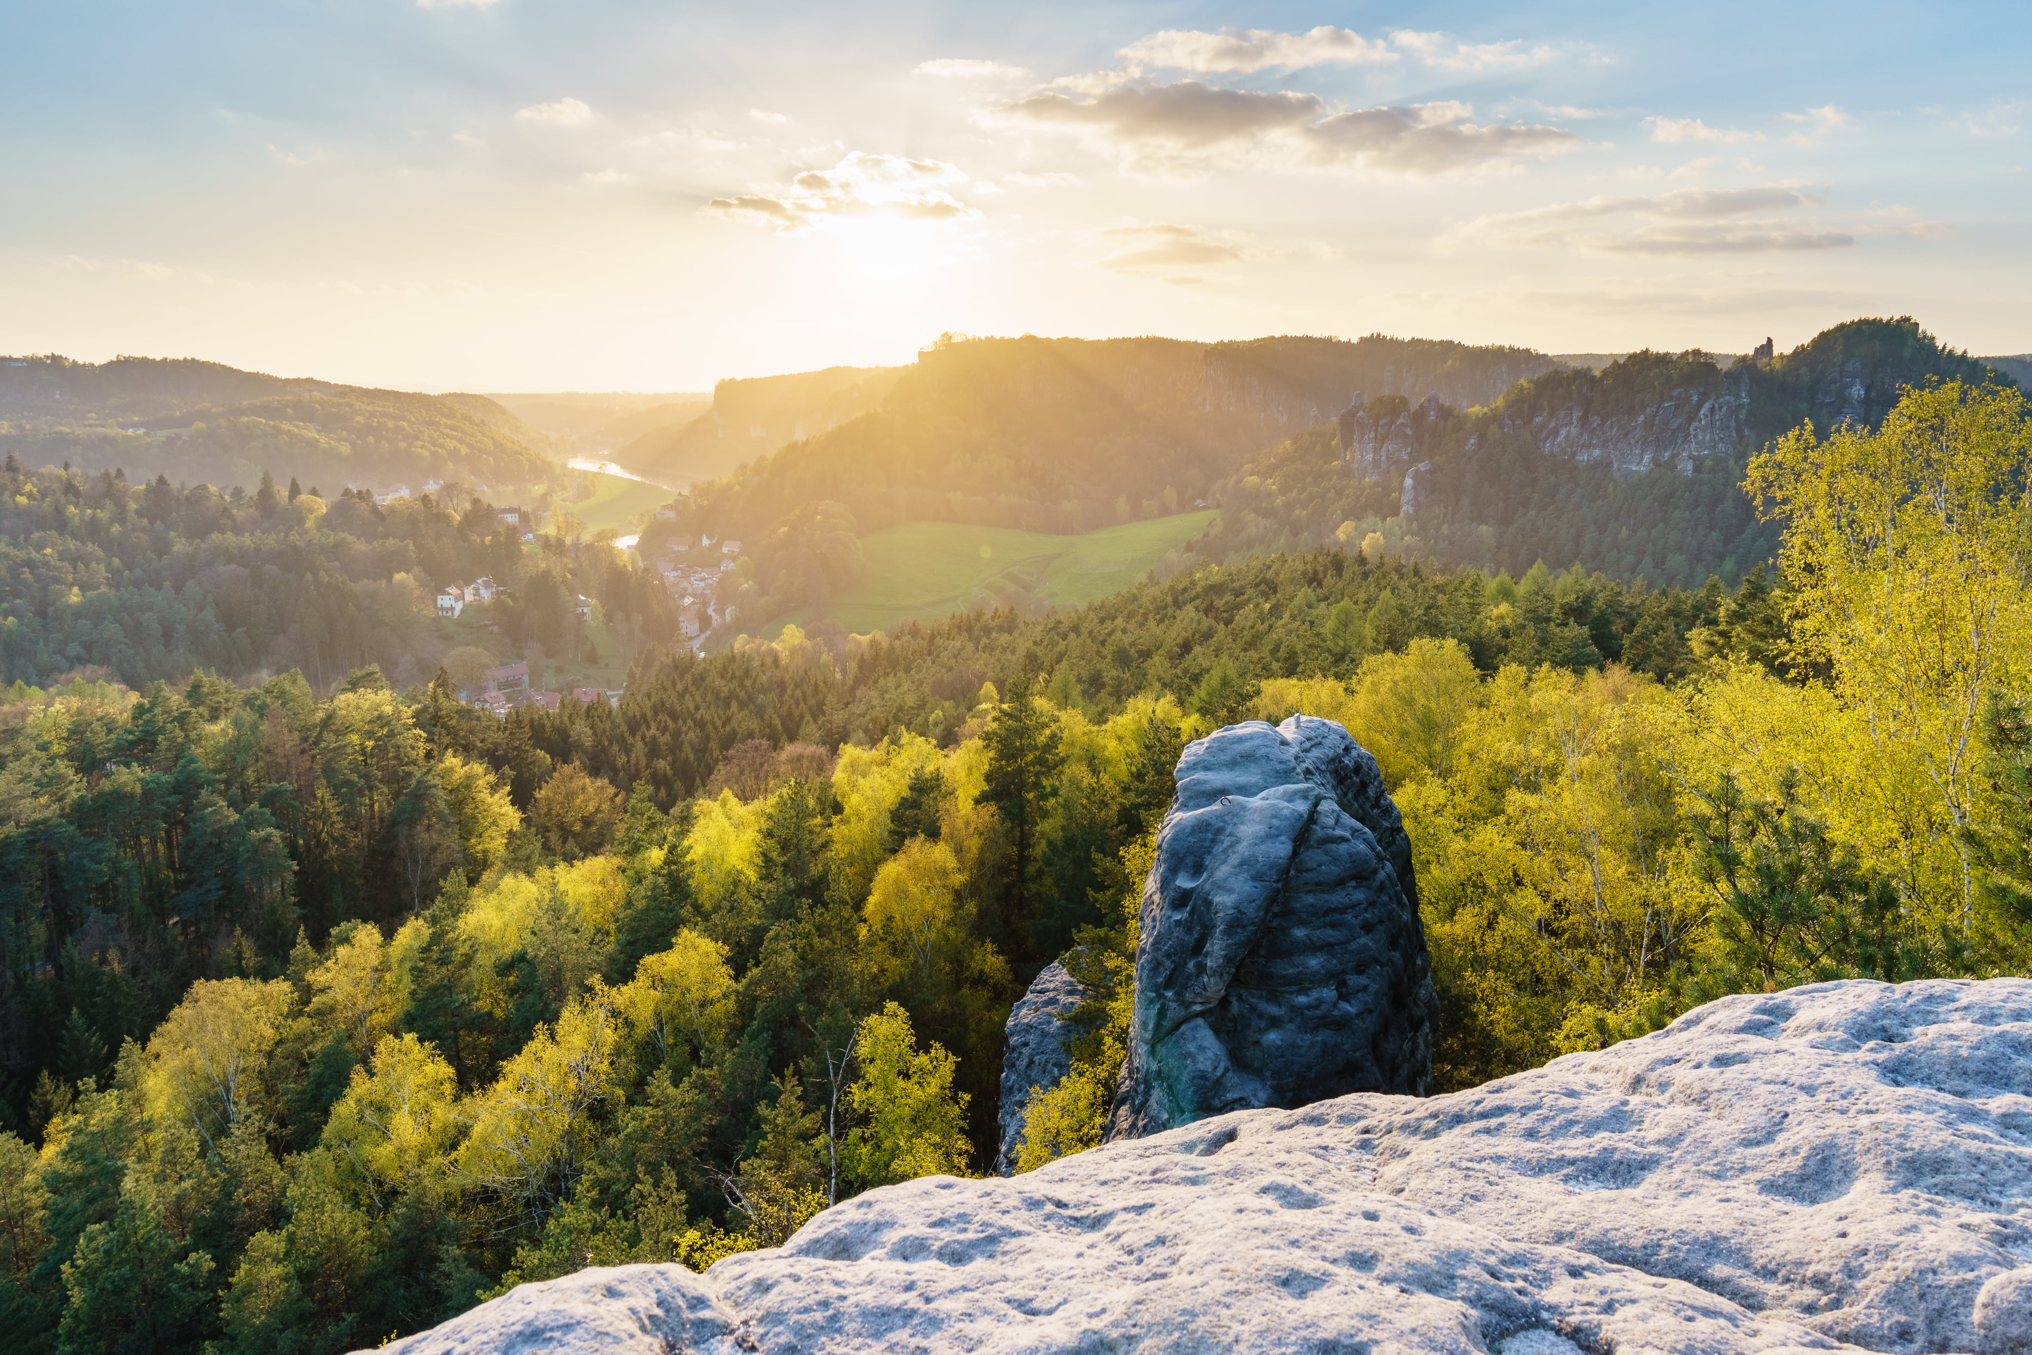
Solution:
<path fill-rule="evenodd" d="M 1987 374 L 1910 317 L 1837 325 L 1727 372 L 1699 351 L 1569 370 L 1382 335 L 947 335 L 878 410 L 697 486 L 673 530 L 750 546 L 748 628 L 825 603 L 855 577 L 847 542 L 902 522 L 1077 534 L 1195 504 L 1221 518 L 1185 563 L 1341 540 L 1489 571 L 1542 559 L 1735 583 L 1778 542 L 1741 492 L 1756 449 L 1804 421 L 1874 425 L 1908 386 Z"/>

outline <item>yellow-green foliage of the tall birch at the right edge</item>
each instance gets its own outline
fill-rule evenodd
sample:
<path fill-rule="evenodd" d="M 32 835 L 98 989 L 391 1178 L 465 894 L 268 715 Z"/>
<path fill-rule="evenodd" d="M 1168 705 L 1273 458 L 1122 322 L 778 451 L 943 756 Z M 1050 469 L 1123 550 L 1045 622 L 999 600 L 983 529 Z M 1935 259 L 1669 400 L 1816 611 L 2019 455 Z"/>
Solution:
<path fill-rule="evenodd" d="M 1823 662 L 1871 758 L 1900 764 L 1957 845 L 1979 813 L 1977 731 L 1999 685 L 2032 662 L 2032 425 L 2002 386 L 1908 392 L 1869 433 L 1796 429 L 1750 465 L 1748 488 L 1786 522 L 1794 636 Z M 1941 882 L 1908 872 L 1908 902 L 1969 924 L 1965 849 Z"/>

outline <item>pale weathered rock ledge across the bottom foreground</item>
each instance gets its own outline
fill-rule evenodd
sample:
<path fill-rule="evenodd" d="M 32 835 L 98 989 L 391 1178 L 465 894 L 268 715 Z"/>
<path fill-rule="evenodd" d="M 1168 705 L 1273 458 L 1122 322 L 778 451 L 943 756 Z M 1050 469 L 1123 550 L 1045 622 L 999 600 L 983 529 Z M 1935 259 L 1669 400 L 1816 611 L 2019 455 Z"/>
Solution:
<path fill-rule="evenodd" d="M 390 1349 L 2006 1355 L 2028 1294 L 2032 981 L 1849 981 L 872 1190 L 707 1276 L 583 1272 Z"/>

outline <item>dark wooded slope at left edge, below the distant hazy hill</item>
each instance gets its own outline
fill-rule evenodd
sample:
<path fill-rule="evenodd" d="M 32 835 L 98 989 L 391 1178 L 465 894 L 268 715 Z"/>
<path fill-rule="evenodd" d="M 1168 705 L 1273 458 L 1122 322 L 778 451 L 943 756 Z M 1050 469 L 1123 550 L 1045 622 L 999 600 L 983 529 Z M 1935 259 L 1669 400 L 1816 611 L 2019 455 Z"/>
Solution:
<path fill-rule="evenodd" d="M 677 632 L 662 585 L 612 546 L 573 546 L 522 528 L 482 500 L 429 494 L 376 506 L 262 481 L 254 494 L 128 483 L 116 471 L 30 471 L 0 461 L 0 683 L 45 685 L 100 668 L 130 687 L 213 670 L 240 681 L 301 668 L 321 691 L 378 662 L 427 683 L 475 640 L 516 658 L 579 658 L 579 593 L 630 644 Z M 433 593 L 496 579 L 496 632 L 441 624 Z"/>

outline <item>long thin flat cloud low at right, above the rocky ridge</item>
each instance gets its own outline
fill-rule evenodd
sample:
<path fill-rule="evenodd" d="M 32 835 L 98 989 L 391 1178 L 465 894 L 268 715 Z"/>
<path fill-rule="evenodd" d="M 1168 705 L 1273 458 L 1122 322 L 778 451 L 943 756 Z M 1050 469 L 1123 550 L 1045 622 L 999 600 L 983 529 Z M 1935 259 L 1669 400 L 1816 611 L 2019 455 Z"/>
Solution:
<path fill-rule="evenodd" d="M 1479 217 L 1443 244 L 1573 248 L 1591 254 L 1770 254 L 1839 250 L 1859 228 L 1825 225 L 1760 213 L 1819 207 L 1800 185 L 1754 189 L 1678 189 L 1656 197 L 1589 197 L 1530 211 Z M 1892 228 L 1882 228 L 1878 234 Z"/>

